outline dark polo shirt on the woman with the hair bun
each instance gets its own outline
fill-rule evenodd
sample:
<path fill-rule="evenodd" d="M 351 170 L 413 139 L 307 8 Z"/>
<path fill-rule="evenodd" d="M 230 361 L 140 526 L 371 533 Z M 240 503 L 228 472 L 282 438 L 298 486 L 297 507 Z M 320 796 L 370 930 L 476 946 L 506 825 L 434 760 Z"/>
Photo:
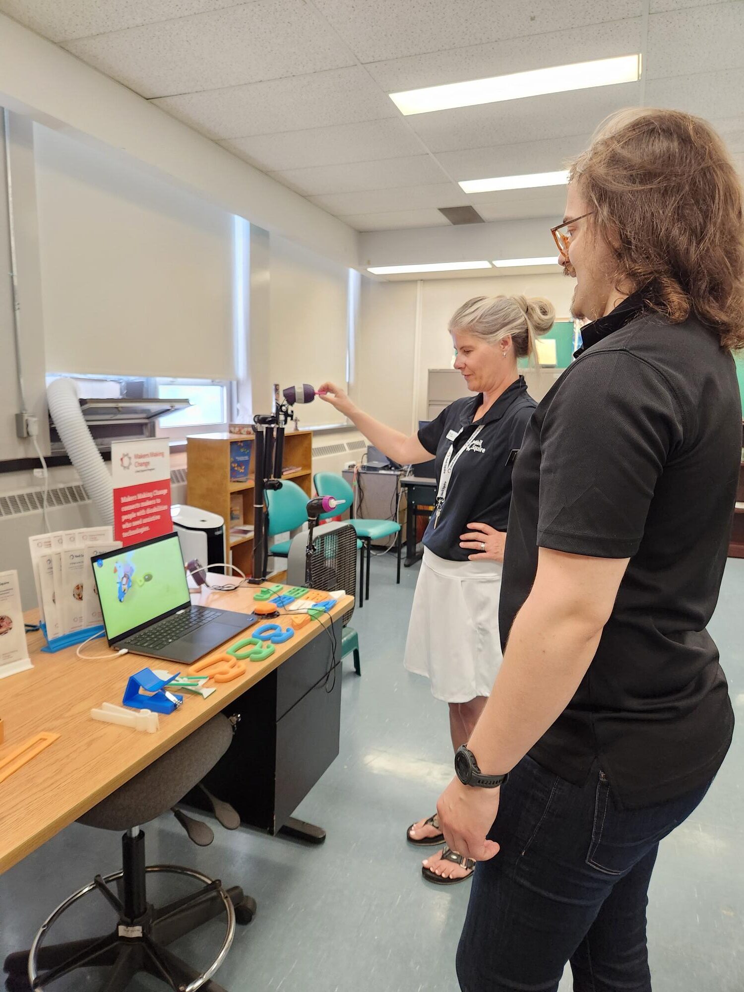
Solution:
<path fill-rule="evenodd" d="M 454 463 L 438 522 L 434 527 L 433 515 L 424 535 L 424 546 L 450 561 L 465 561 L 472 554 L 460 548 L 460 535 L 468 524 L 490 524 L 497 531 L 506 531 L 512 496 L 511 452 L 522 444 L 536 407 L 522 376 L 479 421 L 473 422 L 482 402 L 482 393 L 455 400 L 419 432 L 419 440 L 436 456 L 438 488 L 449 445 L 456 453 L 482 425 L 473 447 L 463 451 Z"/>

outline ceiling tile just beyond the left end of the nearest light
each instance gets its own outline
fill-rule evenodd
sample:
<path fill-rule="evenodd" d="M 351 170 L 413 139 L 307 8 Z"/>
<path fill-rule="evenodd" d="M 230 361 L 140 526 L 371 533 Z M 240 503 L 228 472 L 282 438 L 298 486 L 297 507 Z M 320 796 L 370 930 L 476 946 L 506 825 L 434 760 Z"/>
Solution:
<path fill-rule="evenodd" d="M 281 134 L 257 134 L 222 144 L 266 172 L 395 159 L 416 155 L 422 150 L 421 141 L 399 117 Z"/>

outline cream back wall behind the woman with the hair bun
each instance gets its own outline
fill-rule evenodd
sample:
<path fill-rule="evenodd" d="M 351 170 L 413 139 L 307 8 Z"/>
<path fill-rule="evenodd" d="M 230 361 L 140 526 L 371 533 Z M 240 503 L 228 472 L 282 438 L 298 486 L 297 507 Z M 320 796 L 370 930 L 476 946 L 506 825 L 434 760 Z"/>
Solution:
<path fill-rule="evenodd" d="M 572 293 L 573 282 L 559 274 L 419 282 L 363 278 L 357 342 L 359 406 L 399 431 L 413 431 L 427 417 L 429 369 L 451 364 L 452 342 L 446 327 L 454 310 L 471 297 L 523 294 L 546 297 L 557 318 L 567 319 Z"/>

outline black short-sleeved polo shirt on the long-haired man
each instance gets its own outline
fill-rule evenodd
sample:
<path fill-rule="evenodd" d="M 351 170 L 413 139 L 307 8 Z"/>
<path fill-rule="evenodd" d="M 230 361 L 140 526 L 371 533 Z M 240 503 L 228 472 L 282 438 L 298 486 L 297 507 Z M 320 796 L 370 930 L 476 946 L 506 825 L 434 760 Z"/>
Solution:
<path fill-rule="evenodd" d="M 694 317 L 638 294 L 583 330 L 541 401 L 514 474 L 499 618 L 504 643 L 538 548 L 630 558 L 594 659 L 531 756 L 576 785 L 595 761 L 618 802 L 709 781 L 733 712 L 705 629 L 726 561 L 741 458 L 734 361 Z"/>

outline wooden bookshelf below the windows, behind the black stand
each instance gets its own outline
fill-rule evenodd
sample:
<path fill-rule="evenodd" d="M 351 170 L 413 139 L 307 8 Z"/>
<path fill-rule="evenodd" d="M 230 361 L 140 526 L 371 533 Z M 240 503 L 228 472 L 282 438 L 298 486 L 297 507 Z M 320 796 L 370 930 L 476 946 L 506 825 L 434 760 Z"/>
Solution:
<path fill-rule="evenodd" d="M 248 478 L 230 480 L 230 444 L 249 440 L 254 444 Z M 297 466 L 283 475 L 312 495 L 312 432 L 288 431 L 284 439 L 285 466 Z M 194 434 L 186 438 L 186 503 L 219 514 L 225 522 L 225 561 L 230 561 L 246 575 L 253 566 L 253 537 L 230 537 L 230 501 L 242 503 L 244 524 L 253 524 L 253 490 L 255 486 L 255 438 L 253 434 Z M 234 525 L 233 525 L 234 526 Z"/>

